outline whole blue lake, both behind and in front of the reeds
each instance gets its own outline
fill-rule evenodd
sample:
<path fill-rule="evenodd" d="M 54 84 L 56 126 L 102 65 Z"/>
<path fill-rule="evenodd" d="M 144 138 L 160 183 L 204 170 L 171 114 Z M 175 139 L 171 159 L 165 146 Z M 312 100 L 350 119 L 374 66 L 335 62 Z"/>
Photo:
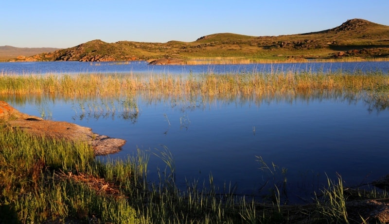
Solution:
<path fill-rule="evenodd" d="M 147 65 L 130 63 L 0 63 L 11 74 L 141 73 L 198 75 L 272 71 L 381 71 L 388 62 L 301 63 L 241 65 Z M 208 181 L 236 193 L 261 194 L 267 180 L 279 185 L 287 177 L 289 200 L 295 194 L 317 191 L 326 175 L 342 176 L 347 186 L 369 183 L 389 174 L 389 110 L 375 105 L 366 93 L 339 93 L 263 98 L 198 96 L 132 96 L 138 112 L 121 110 L 125 99 L 74 99 L 0 96 L 21 112 L 92 128 L 99 134 L 127 141 L 125 159 L 137 149 L 150 153 L 148 177 L 158 179 L 165 164 L 153 153 L 172 153 L 180 187 L 186 181 Z M 106 157 L 100 159 L 105 160 Z M 266 172 L 264 161 L 272 171 Z M 277 166 L 272 166 L 274 163 Z M 283 169 L 284 168 L 284 169 Z M 265 171 L 264 171 L 265 170 Z M 274 177 L 274 178 L 273 178 Z M 270 186 L 271 187 L 271 186 Z M 309 196 L 309 194 L 308 194 Z"/>

